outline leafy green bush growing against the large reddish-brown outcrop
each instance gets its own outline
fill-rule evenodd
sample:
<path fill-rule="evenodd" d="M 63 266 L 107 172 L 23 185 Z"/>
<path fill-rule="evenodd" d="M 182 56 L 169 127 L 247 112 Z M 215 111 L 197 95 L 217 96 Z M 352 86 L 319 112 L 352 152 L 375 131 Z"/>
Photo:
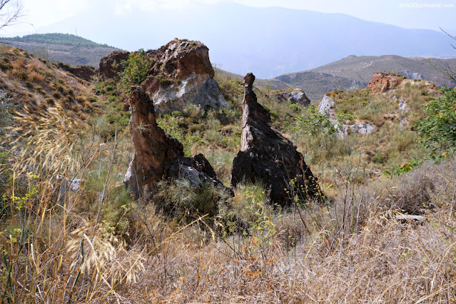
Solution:
<path fill-rule="evenodd" d="M 146 55 L 143 49 L 130 53 L 127 61 L 121 61 L 123 72 L 121 76 L 121 83 L 126 91 L 130 90 L 131 86 L 140 85 L 146 80 L 148 69 L 151 67 L 151 60 Z"/>

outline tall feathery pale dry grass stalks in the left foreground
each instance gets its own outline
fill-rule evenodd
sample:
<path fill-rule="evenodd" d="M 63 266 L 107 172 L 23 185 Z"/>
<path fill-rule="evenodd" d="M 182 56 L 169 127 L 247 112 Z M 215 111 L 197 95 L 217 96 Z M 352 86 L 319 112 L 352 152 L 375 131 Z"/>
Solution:
<path fill-rule="evenodd" d="M 142 249 L 77 213 L 83 189 L 70 190 L 106 144 L 81 147 L 86 129 L 60 106 L 25 110 L 15 125 L 2 163 L 9 186 L 0 214 L 0 302 L 123 302 L 118 290 L 143 270 Z"/>

